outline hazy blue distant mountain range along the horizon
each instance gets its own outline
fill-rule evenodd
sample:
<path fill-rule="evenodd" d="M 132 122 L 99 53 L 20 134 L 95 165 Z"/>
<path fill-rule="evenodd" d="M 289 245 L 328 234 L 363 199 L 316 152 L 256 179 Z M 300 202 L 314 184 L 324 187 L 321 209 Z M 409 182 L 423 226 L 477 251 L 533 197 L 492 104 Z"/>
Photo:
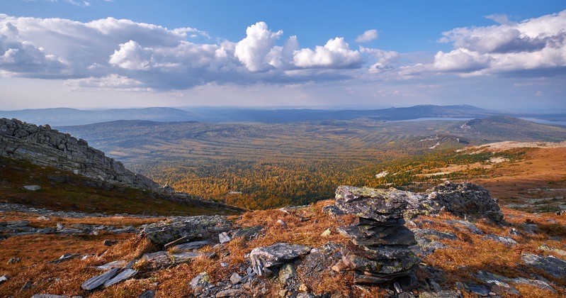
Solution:
<path fill-rule="evenodd" d="M 501 116 L 501 112 L 489 111 L 470 105 L 434 106 L 419 105 L 403 108 L 372 110 L 325 110 L 325 109 L 240 109 L 214 107 L 187 107 L 183 109 L 153 107 L 140 109 L 79 110 L 69 108 L 26 109 L 0 111 L 0 118 L 18 118 L 35 124 L 74 126 L 118 120 L 142 120 L 157 122 L 198 121 L 209 123 L 293 123 L 300 121 L 351 120 L 369 118 L 373 121 L 402 121 L 419 118 L 485 118 Z M 505 114 L 520 118 L 541 120 L 547 124 L 566 125 L 566 114 Z"/>

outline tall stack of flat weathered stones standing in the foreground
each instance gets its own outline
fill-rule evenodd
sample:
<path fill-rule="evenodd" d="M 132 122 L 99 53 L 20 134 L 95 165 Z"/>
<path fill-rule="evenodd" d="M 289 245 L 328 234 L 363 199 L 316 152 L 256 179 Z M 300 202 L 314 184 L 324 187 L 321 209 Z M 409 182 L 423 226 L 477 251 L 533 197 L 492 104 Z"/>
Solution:
<path fill-rule="evenodd" d="M 414 274 L 420 260 L 409 246 L 417 244 L 404 226 L 407 200 L 382 189 L 341 186 L 336 206 L 358 216 L 351 226 L 339 228 L 350 238 L 342 262 L 354 272 L 358 284 L 380 284 Z"/>

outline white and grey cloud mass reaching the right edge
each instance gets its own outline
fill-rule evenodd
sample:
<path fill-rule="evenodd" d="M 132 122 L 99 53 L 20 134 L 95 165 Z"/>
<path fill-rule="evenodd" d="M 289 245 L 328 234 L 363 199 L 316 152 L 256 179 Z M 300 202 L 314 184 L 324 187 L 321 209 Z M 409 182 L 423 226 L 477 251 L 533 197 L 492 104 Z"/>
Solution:
<path fill-rule="evenodd" d="M 501 15 L 487 18 L 499 24 L 446 31 L 440 41 L 452 43 L 454 50 L 436 53 L 429 65 L 402 71 L 533 76 L 566 72 L 566 11 L 521 22 Z"/>

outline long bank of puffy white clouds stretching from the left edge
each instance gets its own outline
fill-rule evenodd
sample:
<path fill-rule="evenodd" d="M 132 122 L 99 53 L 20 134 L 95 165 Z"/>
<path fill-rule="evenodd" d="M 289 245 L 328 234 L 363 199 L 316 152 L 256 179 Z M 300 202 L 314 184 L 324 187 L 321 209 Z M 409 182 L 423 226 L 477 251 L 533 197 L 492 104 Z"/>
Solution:
<path fill-rule="evenodd" d="M 218 41 L 193 43 L 195 35 Z M 0 14 L 0 72 L 63 78 L 75 89 L 169 90 L 209 83 L 348 79 L 368 70 L 388 69 L 397 56 L 385 50 L 350 48 L 341 37 L 300 48 L 297 36 L 283 38 L 283 31 L 272 31 L 264 22 L 252 24 L 245 38 L 233 42 L 210 38 L 196 28 L 169 29 L 124 19 L 82 23 Z"/>

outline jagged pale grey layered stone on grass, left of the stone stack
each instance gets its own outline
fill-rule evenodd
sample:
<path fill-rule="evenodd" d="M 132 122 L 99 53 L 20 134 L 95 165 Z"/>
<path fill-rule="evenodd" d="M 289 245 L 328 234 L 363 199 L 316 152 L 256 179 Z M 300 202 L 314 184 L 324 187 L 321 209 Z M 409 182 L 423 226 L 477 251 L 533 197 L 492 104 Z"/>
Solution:
<path fill-rule="evenodd" d="M 270 246 L 254 248 L 249 253 L 251 268 L 256 275 L 268 275 L 273 268 L 294 260 L 310 252 L 310 247 L 288 243 L 276 243 Z"/>

